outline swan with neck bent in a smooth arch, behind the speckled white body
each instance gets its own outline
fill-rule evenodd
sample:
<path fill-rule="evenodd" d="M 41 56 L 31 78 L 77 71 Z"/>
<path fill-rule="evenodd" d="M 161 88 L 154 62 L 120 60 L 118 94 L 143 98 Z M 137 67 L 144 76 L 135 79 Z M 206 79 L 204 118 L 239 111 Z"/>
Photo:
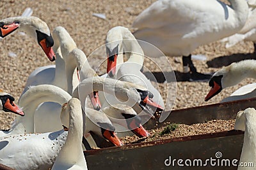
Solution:
<path fill-rule="evenodd" d="M 9 131 L 0 131 L 0 136 L 10 134 L 29 134 L 35 132 L 35 127 L 41 127 L 42 131 L 52 132 L 62 129 L 60 121 L 60 113 L 52 112 L 42 113 L 42 117 L 47 119 L 45 122 L 40 122 L 39 125 L 34 123 L 34 114 L 39 104 L 52 101 L 59 104 L 67 103 L 71 96 L 60 87 L 54 85 L 37 85 L 31 87 L 24 95 L 20 97 L 19 104 L 23 107 L 26 117 L 17 117 L 13 122 Z"/>

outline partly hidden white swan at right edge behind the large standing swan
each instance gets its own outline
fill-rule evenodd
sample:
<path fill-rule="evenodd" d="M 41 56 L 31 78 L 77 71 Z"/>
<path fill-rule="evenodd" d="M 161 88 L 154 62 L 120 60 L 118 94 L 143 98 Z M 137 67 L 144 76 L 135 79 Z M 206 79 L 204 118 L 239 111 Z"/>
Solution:
<path fill-rule="evenodd" d="M 240 41 L 253 41 L 254 45 L 254 51 L 256 52 L 256 9 L 255 9 L 255 4 L 250 4 L 249 5 L 249 14 L 248 18 L 246 20 L 246 23 L 244 24 L 244 27 L 237 32 L 236 34 L 229 36 L 227 38 L 223 38 L 221 41 L 226 42 L 226 48 L 230 48 L 231 46 L 236 45 Z"/>

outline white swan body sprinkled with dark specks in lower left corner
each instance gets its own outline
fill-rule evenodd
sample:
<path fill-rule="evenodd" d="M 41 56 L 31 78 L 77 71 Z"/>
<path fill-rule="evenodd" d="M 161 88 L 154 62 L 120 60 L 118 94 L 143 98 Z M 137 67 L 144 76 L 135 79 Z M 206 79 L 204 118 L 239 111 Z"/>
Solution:
<path fill-rule="evenodd" d="M 0 138 L 0 163 L 13 169 L 50 169 L 67 132 L 10 134 Z"/>

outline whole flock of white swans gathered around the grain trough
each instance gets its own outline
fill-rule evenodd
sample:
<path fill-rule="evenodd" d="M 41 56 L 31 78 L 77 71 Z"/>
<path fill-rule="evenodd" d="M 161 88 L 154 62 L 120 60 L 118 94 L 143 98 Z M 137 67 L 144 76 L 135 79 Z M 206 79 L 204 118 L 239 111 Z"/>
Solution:
<path fill-rule="evenodd" d="M 205 101 L 246 77 L 255 78 L 255 60 L 231 64 L 212 76 L 198 73 L 191 61 L 195 48 L 212 41 L 225 38 L 222 41 L 228 41 L 227 47 L 241 40 L 256 41 L 252 22 L 256 3 L 229 3 L 209 0 L 205 6 L 204 0 L 156 1 L 136 17 L 133 34 L 121 26 L 108 31 L 108 66 L 103 76 L 95 73 L 64 27 L 56 27 L 51 35 L 47 24 L 37 17 L 0 20 L 1 39 L 19 29 L 37 41 L 50 61 L 55 60 L 55 65 L 39 67 L 30 74 L 19 106 L 10 94 L 0 91 L 1 110 L 20 115 L 9 131 L 0 131 L 0 163 L 14 169 L 87 169 L 83 150 L 97 147 L 90 132 L 115 146 L 124 145 L 117 129 L 140 138 L 149 136 L 138 114 L 152 117 L 164 110 L 164 101 L 141 73 L 144 55 L 182 55 L 184 73 L 191 80 L 211 78 Z M 155 45 L 163 53 L 136 39 Z M 255 88 L 255 83 L 241 87 L 221 102 L 255 97 Z M 256 159 L 255 114 L 253 108 L 237 113 L 235 129 L 245 131 L 240 161 Z"/>

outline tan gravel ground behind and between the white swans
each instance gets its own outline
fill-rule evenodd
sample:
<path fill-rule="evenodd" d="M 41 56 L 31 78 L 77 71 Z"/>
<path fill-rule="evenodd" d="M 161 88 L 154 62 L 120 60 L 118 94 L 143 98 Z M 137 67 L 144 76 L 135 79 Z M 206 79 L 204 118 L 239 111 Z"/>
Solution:
<path fill-rule="evenodd" d="M 49 0 L 3 0 L 0 1 L 1 18 L 15 17 L 30 7 L 33 15 L 44 20 L 51 31 L 61 25 L 67 29 L 77 46 L 90 55 L 96 48 L 104 45 L 106 33 L 111 27 L 122 25 L 131 28 L 132 21 L 141 11 L 147 8 L 153 1 L 64 1 L 56 0 L 54 3 Z M 105 13 L 106 20 L 93 17 L 93 13 Z M 212 73 L 223 65 L 234 60 L 252 57 L 254 51 L 253 43 L 239 43 L 232 48 L 225 48 L 220 42 L 200 46 L 193 54 L 201 53 L 207 56 L 207 60 L 195 60 L 195 66 L 201 73 Z M 12 34 L 3 41 L 0 41 L 1 52 L 1 89 L 12 94 L 16 99 L 24 89 L 26 79 L 36 67 L 54 64 L 44 55 L 40 46 L 27 36 Z M 8 53 L 14 52 L 17 57 L 9 57 Z M 99 63 L 103 57 L 89 59 L 93 64 Z M 212 59 L 212 62 L 210 62 Z M 219 59 L 219 60 L 217 60 Z M 181 57 L 168 57 L 175 71 L 182 72 Z M 207 61 L 211 64 L 207 65 Z M 106 67 L 106 66 L 105 66 Z M 145 62 L 145 67 L 150 71 L 157 71 L 154 64 Z M 167 66 L 166 66 L 167 67 Z M 234 90 L 246 83 L 253 82 L 246 79 L 239 85 L 225 89 L 218 96 L 205 103 L 204 97 L 209 91 L 207 82 L 177 82 L 176 101 L 174 110 L 189 108 L 205 104 L 218 103 L 223 97 L 229 96 Z M 164 83 L 159 83 L 159 89 L 164 99 L 166 98 L 166 87 Z M 175 92 L 172 94 L 175 96 Z M 15 115 L 10 113 L 0 113 L 0 129 L 8 129 L 14 120 Z"/>

